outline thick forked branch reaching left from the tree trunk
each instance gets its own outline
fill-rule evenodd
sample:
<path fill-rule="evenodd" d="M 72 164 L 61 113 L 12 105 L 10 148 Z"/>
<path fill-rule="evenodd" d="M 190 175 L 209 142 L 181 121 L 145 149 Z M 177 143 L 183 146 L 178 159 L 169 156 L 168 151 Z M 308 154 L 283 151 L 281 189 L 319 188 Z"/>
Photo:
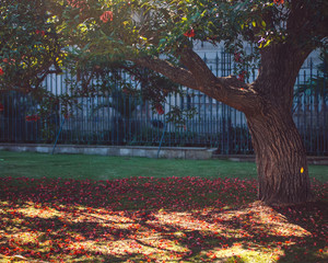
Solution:
<path fill-rule="evenodd" d="M 142 57 L 132 61 L 169 78 L 176 83 L 198 90 L 246 114 L 256 112 L 258 95 L 251 84 L 235 77 L 216 78 L 206 62 L 191 49 L 179 53 L 185 68 L 176 67 L 156 57 Z"/>

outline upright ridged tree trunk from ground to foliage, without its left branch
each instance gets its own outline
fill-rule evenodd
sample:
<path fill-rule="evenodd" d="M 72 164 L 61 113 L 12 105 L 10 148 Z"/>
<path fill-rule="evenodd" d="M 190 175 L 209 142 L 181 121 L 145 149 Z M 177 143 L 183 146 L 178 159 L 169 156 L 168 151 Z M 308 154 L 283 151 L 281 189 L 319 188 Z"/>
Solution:
<path fill-rule="evenodd" d="M 258 111 L 244 112 L 256 153 L 258 198 L 267 204 L 297 204 L 313 197 L 306 151 L 292 116 L 294 83 L 309 53 L 289 44 L 262 50 L 253 83 Z"/>

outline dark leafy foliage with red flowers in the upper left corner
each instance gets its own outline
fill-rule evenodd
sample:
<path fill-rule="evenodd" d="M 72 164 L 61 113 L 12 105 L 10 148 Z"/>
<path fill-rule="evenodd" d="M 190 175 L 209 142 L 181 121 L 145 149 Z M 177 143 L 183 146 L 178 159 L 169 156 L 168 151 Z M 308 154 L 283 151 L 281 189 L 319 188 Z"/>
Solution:
<path fill-rule="evenodd" d="M 3 0 L 0 18 L 0 90 L 28 92 L 47 75 L 61 72 L 56 18 L 44 1 Z"/>

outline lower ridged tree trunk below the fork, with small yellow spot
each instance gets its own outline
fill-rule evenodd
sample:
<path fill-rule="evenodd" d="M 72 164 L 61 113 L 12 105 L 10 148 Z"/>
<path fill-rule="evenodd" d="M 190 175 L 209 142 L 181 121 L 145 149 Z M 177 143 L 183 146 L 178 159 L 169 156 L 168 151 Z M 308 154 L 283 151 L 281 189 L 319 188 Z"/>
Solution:
<path fill-rule="evenodd" d="M 258 198 L 267 204 L 311 201 L 306 152 L 291 113 L 276 107 L 247 122 L 256 152 Z"/>

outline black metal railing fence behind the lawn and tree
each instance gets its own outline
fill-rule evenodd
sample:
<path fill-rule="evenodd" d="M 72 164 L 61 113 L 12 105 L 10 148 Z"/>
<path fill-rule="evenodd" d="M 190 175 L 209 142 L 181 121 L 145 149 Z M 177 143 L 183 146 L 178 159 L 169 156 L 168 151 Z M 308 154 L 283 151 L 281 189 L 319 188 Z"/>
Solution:
<path fill-rule="evenodd" d="M 204 60 L 216 76 L 233 73 L 234 62 L 225 53 L 204 54 Z M 248 81 L 253 81 L 256 72 Z M 309 58 L 295 83 L 294 121 L 308 155 L 328 155 L 327 71 L 320 61 Z M 74 77 L 50 76 L 45 88 L 51 94 L 70 92 Z M 132 81 L 132 80 L 131 80 Z M 97 82 L 95 82 L 97 84 Z M 218 152 L 251 153 L 251 140 L 243 113 L 189 89 L 184 94 L 167 96 L 164 112 L 175 107 L 196 108 L 185 123 L 165 121 L 141 98 L 121 92 L 121 87 L 107 95 L 75 99 L 70 116 L 61 114 L 61 105 L 45 116 L 37 100 L 30 94 L 3 93 L 0 98 L 1 142 L 48 142 L 82 145 L 130 145 L 172 147 L 213 147 Z"/>

